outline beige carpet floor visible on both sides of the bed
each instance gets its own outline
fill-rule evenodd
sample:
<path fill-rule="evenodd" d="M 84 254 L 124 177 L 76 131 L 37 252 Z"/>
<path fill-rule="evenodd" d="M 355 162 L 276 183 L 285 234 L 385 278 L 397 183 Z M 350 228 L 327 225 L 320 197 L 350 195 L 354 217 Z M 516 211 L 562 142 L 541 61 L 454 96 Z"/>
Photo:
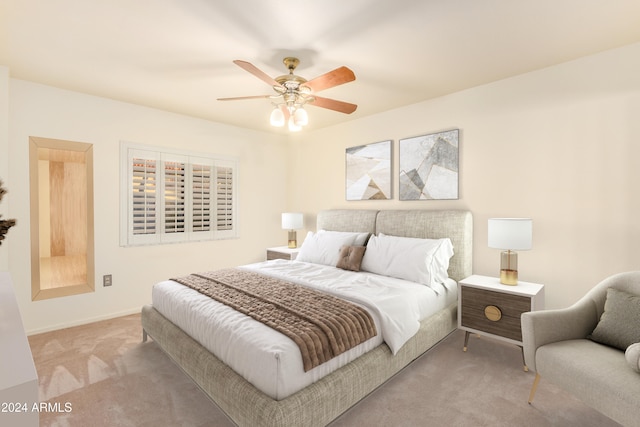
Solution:
<path fill-rule="evenodd" d="M 43 427 L 233 426 L 131 315 L 29 337 Z M 520 349 L 455 331 L 332 423 L 346 426 L 617 426 L 534 374 Z"/>

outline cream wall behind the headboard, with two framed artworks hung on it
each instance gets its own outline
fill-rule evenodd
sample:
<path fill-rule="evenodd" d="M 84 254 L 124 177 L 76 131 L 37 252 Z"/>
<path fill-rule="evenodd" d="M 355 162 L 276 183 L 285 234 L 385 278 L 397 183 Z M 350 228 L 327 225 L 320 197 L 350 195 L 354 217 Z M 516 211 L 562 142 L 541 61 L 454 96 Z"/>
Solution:
<path fill-rule="evenodd" d="M 398 201 L 398 139 L 451 128 L 460 199 Z M 345 148 L 386 139 L 394 200 L 346 202 Z M 470 209 L 477 274 L 499 270 L 487 219 L 532 217 L 520 279 L 547 285 L 547 307 L 640 269 L 640 44 L 299 134 L 290 147 L 290 205 L 307 223 L 326 208 Z"/>

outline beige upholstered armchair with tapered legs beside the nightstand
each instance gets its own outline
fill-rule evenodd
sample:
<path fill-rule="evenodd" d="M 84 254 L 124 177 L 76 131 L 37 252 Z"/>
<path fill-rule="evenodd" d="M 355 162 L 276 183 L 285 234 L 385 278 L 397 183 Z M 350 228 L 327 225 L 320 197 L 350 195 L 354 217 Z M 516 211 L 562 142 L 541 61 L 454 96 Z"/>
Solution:
<path fill-rule="evenodd" d="M 637 358 L 637 351 L 631 352 L 631 346 L 628 347 L 625 358 L 625 350 L 588 338 L 596 326 L 602 328 L 599 322 L 609 288 L 626 292 L 625 301 L 631 304 L 625 306 L 631 307 L 625 308 L 625 315 L 630 313 L 631 322 L 626 322 L 624 328 L 614 329 L 631 330 L 632 334 L 637 331 L 640 336 L 640 323 L 636 323 L 640 320 L 640 311 L 635 311 L 635 307 L 640 307 L 640 271 L 620 273 L 603 280 L 569 308 L 522 315 L 525 362 L 536 372 L 529 403 L 533 401 L 540 378 L 544 377 L 609 418 L 623 425 L 638 425 L 640 373 L 637 372 L 638 360 L 632 360 L 632 357 Z M 607 305 L 609 316 L 614 312 L 611 304 Z M 629 324 L 633 326 L 629 327 Z M 633 347 L 637 349 L 638 346 Z"/>

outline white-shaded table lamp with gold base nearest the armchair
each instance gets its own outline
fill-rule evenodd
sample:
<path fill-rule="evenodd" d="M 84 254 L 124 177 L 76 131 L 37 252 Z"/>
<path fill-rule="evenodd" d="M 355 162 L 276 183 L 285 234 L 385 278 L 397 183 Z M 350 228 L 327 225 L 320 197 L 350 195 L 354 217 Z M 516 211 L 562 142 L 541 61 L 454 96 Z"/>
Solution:
<path fill-rule="evenodd" d="M 500 283 L 518 284 L 518 253 L 531 249 L 533 221 L 531 218 L 491 218 L 488 227 L 490 248 L 500 253 Z"/>

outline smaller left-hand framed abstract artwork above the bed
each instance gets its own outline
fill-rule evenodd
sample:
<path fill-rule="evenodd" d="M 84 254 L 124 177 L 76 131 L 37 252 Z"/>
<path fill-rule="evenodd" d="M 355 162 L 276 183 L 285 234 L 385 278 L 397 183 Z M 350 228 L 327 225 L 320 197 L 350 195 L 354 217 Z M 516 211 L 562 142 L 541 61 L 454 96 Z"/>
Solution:
<path fill-rule="evenodd" d="M 391 143 L 389 140 L 347 148 L 347 200 L 391 199 Z"/>

